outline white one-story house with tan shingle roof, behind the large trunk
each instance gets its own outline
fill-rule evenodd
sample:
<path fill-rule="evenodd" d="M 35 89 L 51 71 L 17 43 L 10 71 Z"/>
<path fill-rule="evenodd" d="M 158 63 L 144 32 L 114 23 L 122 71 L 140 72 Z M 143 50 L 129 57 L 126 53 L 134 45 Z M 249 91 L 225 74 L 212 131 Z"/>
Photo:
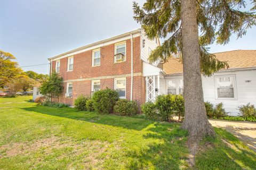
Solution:
<path fill-rule="evenodd" d="M 202 76 L 204 100 L 223 103 L 229 115 L 238 115 L 238 106 L 251 103 L 256 106 L 256 50 L 233 50 L 214 53 L 220 61 L 227 61 L 229 69 L 222 69 L 211 77 Z M 178 60 L 164 64 L 165 88 L 163 94 L 182 94 L 183 71 Z"/>

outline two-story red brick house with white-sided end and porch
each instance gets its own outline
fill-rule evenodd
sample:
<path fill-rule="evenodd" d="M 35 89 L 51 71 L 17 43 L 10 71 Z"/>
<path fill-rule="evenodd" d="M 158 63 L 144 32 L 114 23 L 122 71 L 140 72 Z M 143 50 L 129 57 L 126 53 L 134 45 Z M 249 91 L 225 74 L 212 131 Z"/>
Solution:
<path fill-rule="evenodd" d="M 81 94 L 111 88 L 120 98 L 145 103 L 145 75 L 157 69 L 154 79 L 159 86 L 159 70 L 148 63 L 151 50 L 158 45 L 158 38 L 149 40 L 142 29 L 137 29 L 49 58 L 51 72 L 59 73 L 64 82 L 59 101 L 73 105 Z M 156 95 L 156 88 L 151 87 L 150 95 Z"/>

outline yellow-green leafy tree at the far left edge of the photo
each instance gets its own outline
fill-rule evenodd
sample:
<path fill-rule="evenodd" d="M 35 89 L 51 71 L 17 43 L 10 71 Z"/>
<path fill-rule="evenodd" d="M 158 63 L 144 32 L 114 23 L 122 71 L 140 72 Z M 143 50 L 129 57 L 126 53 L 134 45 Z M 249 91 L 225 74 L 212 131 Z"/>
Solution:
<path fill-rule="evenodd" d="M 12 61 L 14 59 L 16 58 L 11 53 L 0 50 L 0 87 L 2 88 L 22 73 L 17 62 Z"/>

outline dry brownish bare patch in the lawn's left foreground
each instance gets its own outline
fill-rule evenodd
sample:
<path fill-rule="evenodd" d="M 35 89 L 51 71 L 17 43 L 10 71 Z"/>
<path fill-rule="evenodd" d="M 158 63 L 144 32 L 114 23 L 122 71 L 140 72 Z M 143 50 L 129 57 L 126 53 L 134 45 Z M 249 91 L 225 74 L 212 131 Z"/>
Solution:
<path fill-rule="evenodd" d="M 84 165 L 89 167 L 101 164 L 103 159 L 100 155 L 106 151 L 109 147 L 108 142 L 102 142 L 97 140 L 84 140 L 84 141 L 72 141 L 70 138 L 50 137 L 46 139 L 36 140 L 33 142 L 20 142 L 3 145 L 0 147 L 0 158 L 1 157 L 13 157 L 17 155 L 26 156 L 31 152 L 37 152 L 39 149 L 44 149 L 44 155 L 51 154 L 53 149 L 60 149 L 70 147 L 73 148 L 72 156 L 83 155 Z M 66 157 L 66 154 L 60 156 Z M 38 162 L 41 162 L 38 159 Z M 71 166 L 71 165 L 70 165 Z"/>

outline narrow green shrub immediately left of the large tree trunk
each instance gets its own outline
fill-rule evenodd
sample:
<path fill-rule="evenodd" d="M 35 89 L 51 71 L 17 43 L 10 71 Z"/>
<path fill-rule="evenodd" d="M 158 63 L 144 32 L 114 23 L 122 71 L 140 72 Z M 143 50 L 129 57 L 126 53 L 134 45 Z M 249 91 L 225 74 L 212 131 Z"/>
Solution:
<path fill-rule="evenodd" d="M 179 117 L 178 121 L 180 121 L 180 117 L 185 116 L 185 103 L 184 98 L 181 95 L 171 95 L 171 103 L 173 113 Z"/>

